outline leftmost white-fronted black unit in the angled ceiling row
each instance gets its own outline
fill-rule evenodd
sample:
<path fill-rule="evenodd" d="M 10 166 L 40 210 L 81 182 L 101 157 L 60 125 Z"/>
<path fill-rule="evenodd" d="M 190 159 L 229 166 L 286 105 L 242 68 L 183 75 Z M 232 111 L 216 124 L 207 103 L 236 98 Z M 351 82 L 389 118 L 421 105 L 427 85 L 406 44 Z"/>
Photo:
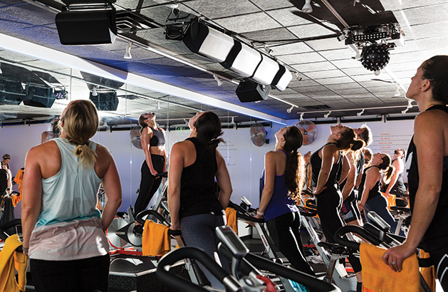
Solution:
<path fill-rule="evenodd" d="M 199 21 L 192 21 L 182 41 L 193 53 L 219 63 L 226 60 L 234 46 L 234 38 Z"/>

